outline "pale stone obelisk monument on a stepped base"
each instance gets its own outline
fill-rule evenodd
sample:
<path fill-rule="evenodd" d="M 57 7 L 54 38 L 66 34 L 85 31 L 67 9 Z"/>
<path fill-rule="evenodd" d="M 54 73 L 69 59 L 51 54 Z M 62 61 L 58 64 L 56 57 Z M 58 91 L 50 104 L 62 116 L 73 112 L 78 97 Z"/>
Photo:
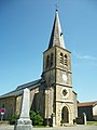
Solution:
<path fill-rule="evenodd" d="M 32 130 L 32 121 L 29 117 L 30 110 L 30 91 L 29 89 L 24 89 L 22 110 L 19 119 L 17 120 L 14 130 Z"/>

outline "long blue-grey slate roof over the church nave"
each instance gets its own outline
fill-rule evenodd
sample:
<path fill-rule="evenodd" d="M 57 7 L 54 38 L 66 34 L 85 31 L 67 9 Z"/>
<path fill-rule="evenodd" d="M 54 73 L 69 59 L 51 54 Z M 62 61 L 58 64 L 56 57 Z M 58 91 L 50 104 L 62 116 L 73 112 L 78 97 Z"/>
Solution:
<path fill-rule="evenodd" d="M 31 82 L 28 82 L 28 83 L 24 83 L 22 86 L 18 86 L 15 90 L 13 90 L 13 91 L 11 91 L 6 94 L 1 95 L 0 99 L 20 95 L 25 88 L 28 88 L 29 90 L 32 90 L 32 89 L 39 87 L 40 84 L 41 84 L 41 79 L 38 79 L 36 81 L 31 81 Z"/>

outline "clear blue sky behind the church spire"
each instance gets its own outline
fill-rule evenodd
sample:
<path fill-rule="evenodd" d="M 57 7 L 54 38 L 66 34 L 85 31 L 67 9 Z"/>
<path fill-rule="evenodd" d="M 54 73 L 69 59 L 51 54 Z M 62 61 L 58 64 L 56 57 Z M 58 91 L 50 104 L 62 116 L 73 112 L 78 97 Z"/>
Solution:
<path fill-rule="evenodd" d="M 56 4 L 73 91 L 97 101 L 97 0 L 0 0 L 0 95 L 41 78 Z"/>

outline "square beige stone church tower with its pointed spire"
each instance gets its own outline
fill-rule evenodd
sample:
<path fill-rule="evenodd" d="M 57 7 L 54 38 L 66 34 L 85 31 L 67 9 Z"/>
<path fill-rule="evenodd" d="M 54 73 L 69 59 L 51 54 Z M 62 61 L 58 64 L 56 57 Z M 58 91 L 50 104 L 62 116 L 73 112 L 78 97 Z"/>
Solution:
<path fill-rule="evenodd" d="M 55 125 L 73 123 L 74 101 L 72 91 L 71 52 L 65 47 L 58 10 L 55 13 L 53 30 L 47 50 L 43 53 L 43 75 L 45 81 L 45 120 L 50 123 L 55 116 Z"/>

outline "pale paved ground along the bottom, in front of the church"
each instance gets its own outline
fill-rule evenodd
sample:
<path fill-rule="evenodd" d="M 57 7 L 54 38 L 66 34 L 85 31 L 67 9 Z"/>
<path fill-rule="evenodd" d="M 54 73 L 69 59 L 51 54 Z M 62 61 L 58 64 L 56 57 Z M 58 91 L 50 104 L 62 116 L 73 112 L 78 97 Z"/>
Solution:
<path fill-rule="evenodd" d="M 0 125 L 0 130 L 14 130 L 14 126 Z M 97 130 L 97 126 L 73 126 L 55 128 L 32 128 L 32 130 Z"/>

